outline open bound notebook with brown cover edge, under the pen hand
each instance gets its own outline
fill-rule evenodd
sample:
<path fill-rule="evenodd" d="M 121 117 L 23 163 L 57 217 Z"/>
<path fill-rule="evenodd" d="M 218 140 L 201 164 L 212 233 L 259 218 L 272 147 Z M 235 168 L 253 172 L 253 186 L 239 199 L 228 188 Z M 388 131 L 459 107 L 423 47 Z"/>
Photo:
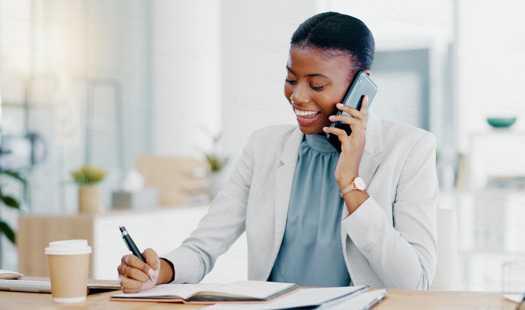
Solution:
<path fill-rule="evenodd" d="M 159 284 L 139 293 L 118 294 L 110 300 L 168 303 L 264 303 L 298 291 L 295 283 L 238 281 L 227 284 Z"/>

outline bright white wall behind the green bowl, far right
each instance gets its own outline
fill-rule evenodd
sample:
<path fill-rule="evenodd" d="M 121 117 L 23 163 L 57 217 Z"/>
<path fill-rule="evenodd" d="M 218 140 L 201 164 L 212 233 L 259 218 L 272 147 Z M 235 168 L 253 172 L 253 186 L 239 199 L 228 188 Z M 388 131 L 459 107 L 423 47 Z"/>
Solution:
<path fill-rule="evenodd" d="M 478 1 L 458 1 L 458 52 L 469 56 L 458 68 L 462 152 L 467 151 L 470 134 L 491 130 L 487 117 L 518 117 L 514 132 L 525 126 L 525 3 Z"/>

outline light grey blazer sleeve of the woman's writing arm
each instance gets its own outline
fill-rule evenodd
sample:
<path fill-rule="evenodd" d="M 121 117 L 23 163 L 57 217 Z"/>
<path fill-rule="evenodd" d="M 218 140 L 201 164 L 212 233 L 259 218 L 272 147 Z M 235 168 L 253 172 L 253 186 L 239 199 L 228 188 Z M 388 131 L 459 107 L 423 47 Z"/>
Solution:
<path fill-rule="evenodd" d="M 246 206 L 253 174 L 253 139 L 248 143 L 223 190 L 212 201 L 208 211 L 199 221 L 197 228 L 180 247 L 160 255 L 173 264 L 174 280 L 170 283 L 198 283 L 213 269 L 218 256 L 225 253 L 230 244 L 245 231 Z"/>

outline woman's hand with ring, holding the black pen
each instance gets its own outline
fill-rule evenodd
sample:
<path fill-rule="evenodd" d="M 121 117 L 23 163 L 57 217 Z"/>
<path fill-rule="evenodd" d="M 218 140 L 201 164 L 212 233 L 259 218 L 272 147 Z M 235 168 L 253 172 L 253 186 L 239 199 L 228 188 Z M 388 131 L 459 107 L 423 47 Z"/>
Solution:
<path fill-rule="evenodd" d="M 121 264 L 117 267 L 122 292 L 137 293 L 149 290 L 154 286 L 150 275 L 153 275 L 157 284 L 167 283 L 172 279 L 173 269 L 170 264 L 159 259 L 159 255 L 153 249 L 145 249 L 142 256 L 146 260 L 145 263 L 133 254 L 122 256 Z"/>

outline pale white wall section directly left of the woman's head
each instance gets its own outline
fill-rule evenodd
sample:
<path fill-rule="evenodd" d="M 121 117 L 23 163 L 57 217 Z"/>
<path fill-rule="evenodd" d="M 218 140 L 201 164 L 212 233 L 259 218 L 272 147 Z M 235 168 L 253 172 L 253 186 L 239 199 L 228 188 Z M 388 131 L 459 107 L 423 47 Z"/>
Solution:
<path fill-rule="evenodd" d="M 223 1 L 224 151 L 240 154 L 251 128 L 297 124 L 283 93 L 285 67 L 293 31 L 315 8 L 313 0 Z"/>

